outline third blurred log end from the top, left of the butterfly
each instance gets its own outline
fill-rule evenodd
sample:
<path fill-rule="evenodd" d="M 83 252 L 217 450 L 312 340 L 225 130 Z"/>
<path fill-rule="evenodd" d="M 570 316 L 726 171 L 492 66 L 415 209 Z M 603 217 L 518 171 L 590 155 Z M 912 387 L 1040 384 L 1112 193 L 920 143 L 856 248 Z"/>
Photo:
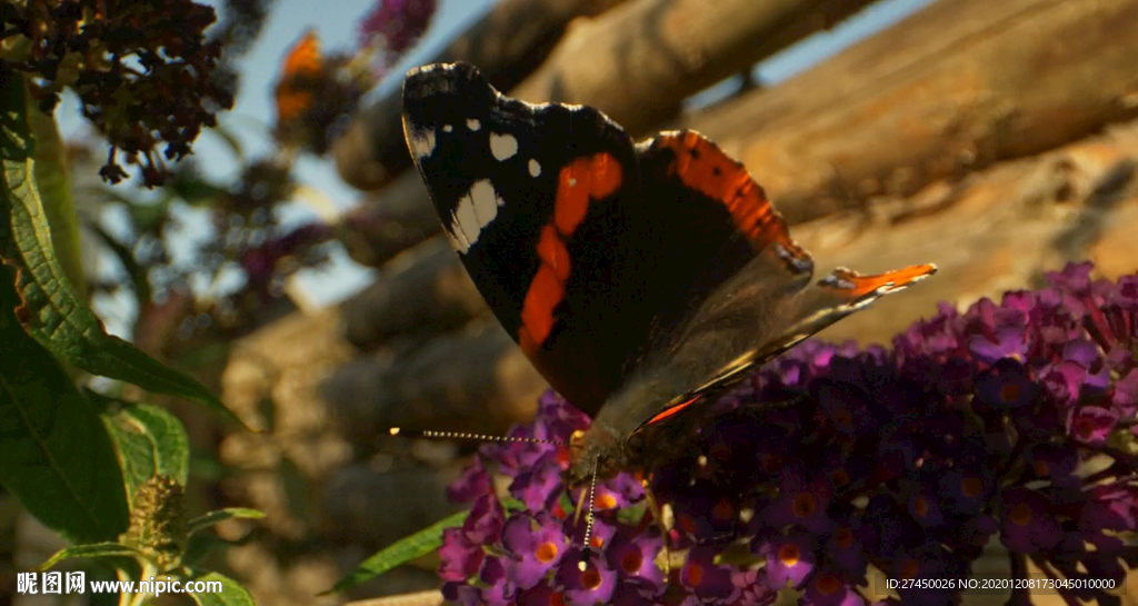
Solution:
<path fill-rule="evenodd" d="M 445 238 L 409 254 L 404 268 L 340 303 L 344 336 L 355 346 L 372 350 L 397 335 L 445 333 L 488 311 Z"/>

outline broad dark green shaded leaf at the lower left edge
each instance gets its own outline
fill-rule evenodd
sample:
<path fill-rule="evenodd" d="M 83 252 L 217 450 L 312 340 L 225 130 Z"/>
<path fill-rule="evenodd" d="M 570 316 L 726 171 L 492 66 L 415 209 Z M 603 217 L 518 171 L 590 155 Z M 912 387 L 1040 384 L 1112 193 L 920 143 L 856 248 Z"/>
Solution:
<path fill-rule="evenodd" d="M 115 449 L 94 406 L 24 331 L 14 270 L 0 264 L 0 484 L 73 541 L 126 530 Z"/>

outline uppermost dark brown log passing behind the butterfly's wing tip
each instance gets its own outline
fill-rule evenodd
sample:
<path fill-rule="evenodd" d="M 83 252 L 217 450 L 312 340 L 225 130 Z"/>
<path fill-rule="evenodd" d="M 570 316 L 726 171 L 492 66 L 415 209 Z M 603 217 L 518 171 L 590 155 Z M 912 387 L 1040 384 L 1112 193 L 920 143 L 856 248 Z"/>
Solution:
<path fill-rule="evenodd" d="M 463 60 L 503 90 L 521 82 L 553 50 L 569 22 L 603 13 L 622 0 L 502 0 L 427 63 Z M 340 177 L 373 190 L 411 165 L 403 145 L 401 91 L 360 112 L 332 145 Z"/>

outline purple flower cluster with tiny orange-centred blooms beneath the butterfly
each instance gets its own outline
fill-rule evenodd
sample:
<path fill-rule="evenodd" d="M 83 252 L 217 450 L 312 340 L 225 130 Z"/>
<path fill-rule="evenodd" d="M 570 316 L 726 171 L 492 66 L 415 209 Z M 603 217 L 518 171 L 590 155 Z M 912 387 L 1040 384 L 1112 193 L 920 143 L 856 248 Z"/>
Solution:
<path fill-rule="evenodd" d="M 1124 539 L 1138 526 L 1138 276 L 1090 271 L 1072 264 L 963 313 L 942 305 L 891 349 L 808 342 L 769 362 L 652 460 L 666 538 L 637 478 L 599 483 L 599 556 L 584 572 L 567 451 L 484 447 L 452 486 L 473 507 L 444 535 L 445 596 L 765 605 L 792 589 L 817 606 L 959 604 L 960 589 L 891 593 L 884 581 L 967 579 L 997 539 L 1015 575 L 1064 585 L 1044 592 L 1119 604 L 1102 583 L 1121 588 L 1138 563 Z M 567 441 L 587 425 L 547 394 L 512 435 Z M 668 551 L 683 564 L 665 571 Z"/>

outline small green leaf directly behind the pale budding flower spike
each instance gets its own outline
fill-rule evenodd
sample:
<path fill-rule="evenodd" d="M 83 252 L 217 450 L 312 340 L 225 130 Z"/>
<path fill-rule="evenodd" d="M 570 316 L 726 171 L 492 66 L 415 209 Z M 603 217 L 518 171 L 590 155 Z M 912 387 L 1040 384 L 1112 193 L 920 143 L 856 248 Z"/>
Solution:
<path fill-rule="evenodd" d="M 156 475 L 173 477 L 185 485 L 190 472 L 190 439 L 178 417 L 151 404 L 122 402 L 94 392 L 88 395 L 102 404 L 100 416 L 118 452 L 130 499 L 139 486 Z"/>

